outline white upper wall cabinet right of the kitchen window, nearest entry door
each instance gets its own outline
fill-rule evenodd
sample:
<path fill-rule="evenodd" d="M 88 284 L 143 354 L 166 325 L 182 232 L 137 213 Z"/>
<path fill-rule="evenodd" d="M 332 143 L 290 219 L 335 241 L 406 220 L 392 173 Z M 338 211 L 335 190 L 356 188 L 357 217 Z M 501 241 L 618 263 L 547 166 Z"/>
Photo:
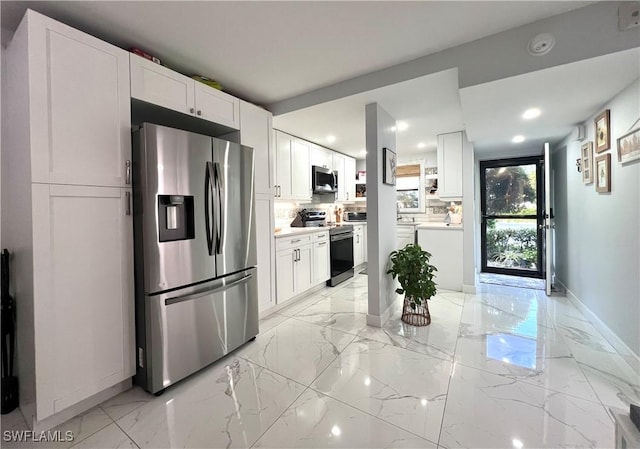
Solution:
<path fill-rule="evenodd" d="M 438 136 L 438 196 L 462 198 L 462 132 Z"/>

